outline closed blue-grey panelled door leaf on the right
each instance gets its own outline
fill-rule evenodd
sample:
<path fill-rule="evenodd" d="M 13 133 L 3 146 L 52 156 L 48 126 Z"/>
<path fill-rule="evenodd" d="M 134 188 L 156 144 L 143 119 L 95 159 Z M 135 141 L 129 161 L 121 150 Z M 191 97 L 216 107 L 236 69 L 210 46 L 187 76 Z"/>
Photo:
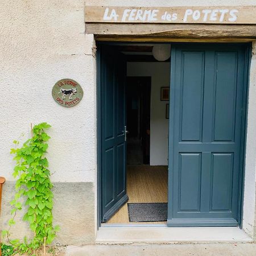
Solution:
<path fill-rule="evenodd" d="M 172 46 L 168 226 L 237 226 L 245 47 Z"/>

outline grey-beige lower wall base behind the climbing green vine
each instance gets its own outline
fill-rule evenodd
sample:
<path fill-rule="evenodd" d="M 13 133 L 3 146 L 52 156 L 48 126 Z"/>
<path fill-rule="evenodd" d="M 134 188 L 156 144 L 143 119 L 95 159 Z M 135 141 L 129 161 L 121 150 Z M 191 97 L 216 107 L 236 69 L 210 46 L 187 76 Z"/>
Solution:
<path fill-rule="evenodd" d="M 94 230 L 94 192 L 91 182 L 58 182 L 54 183 L 53 224 L 60 226 L 54 244 L 84 245 L 93 243 Z M 15 182 L 7 181 L 3 187 L 2 214 L 0 227 L 9 228 L 11 206 L 15 194 Z M 16 224 L 10 229 L 12 239 L 20 239 L 26 235 L 32 237 L 27 222 L 22 221 L 26 207 L 15 217 Z"/>

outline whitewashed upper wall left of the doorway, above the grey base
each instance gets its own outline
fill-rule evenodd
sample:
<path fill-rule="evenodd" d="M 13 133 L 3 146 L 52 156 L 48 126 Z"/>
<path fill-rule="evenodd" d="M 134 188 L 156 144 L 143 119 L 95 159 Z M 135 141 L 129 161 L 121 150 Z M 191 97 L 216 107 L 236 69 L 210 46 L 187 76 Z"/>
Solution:
<path fill-rule="evenodd" d="M 1 1 L 0 176 L 13 180 L 13 140 L 30 123 L 48 122 L 53 181 L 93 181 L 96 172 L 96 87 L 93 35 L 85 35 L 84 1 Z M 84 98 L 63 108 L 52 86 L 76 80 Z M 68 160 L 67 160 L 68 159 Z"/>

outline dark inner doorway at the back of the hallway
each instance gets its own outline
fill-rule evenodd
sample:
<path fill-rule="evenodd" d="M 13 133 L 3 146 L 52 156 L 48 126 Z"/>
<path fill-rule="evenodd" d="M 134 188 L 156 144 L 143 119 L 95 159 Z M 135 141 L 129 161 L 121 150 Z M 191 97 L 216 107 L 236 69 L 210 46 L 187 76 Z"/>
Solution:
<path fill-rule="evenodd" d="M 150 164 L 151 77 L 127 77 L 127 165 Z"/>

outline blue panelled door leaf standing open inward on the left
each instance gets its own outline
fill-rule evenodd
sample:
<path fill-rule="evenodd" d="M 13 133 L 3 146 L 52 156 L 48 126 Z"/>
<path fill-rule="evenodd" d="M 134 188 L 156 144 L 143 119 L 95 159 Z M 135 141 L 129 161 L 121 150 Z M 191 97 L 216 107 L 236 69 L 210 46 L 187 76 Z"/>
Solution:
<path fill-rule="evenodd" d="M 114 47 L 101 47 L 102 222 L 128 200 L 126 194 L 126 65 Z"/>

